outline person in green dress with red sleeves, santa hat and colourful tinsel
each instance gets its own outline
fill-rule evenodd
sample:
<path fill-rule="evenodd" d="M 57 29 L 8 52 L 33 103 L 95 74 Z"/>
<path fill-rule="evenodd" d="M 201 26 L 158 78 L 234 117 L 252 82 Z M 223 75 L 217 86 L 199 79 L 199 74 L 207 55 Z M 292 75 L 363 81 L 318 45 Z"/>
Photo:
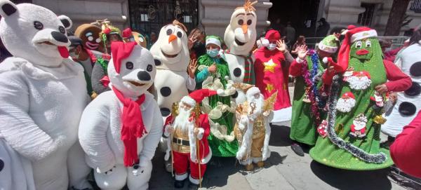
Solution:
<path fill-rule="evenodd" d="M 326 117 L 324 111 L 327 100 L 326 88 L 322 86 L 321 74 L 328 67 L 328 61 L 335 57 L 339 47 L 336 36 L 326 36 L 317 50 L 300 47 L 297 59 L 290 66 L 290 75 L 295 77 L 293 96 L 293 114 L 291 117 L 291 149 L 299 156 L 304 156 L 304 144 L 316 144 L 316 126 Z M 330 59 L 328 59 L 330 57 Z"/>

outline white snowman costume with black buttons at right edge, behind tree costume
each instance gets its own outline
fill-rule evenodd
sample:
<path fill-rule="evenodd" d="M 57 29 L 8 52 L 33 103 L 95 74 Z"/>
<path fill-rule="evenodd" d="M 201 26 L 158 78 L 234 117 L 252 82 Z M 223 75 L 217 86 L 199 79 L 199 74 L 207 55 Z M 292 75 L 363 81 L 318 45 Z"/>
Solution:
<path fill-rule="evenodd" d="M 396 62 L 401 63 L 402 66 L 402 72 L 405 74 L 408 74 L 408 76 L 411 77 L 413 83 L 418 83 L 421 85 L 421 77 L 412 76 L 410 75 L 409 69 L 415 62 L 421 61 L 421 44 L 415 43 L 405 50 L 401 52 L 401 57 L 399 60 L 396 60 Z M 410 121 L 413 121 L 415 116 L 417 116 L 418 111 L 421 110 L 421 94 L 415 95 L 415 96 L 408 96 L 403 92 L 398 93 L 398 100 L 396 101 L 396 104 L 394 105 L 392 112 L 389 114 L 385 114 L 385 118 L 387 119 L 386 123 L 382 125 L 382 133 L 385 133 L 386 135 L 396 137 L 396 135 L 399 135 L 399 133 L 402 132 L 403 127 L 405 125 L 408 125 Z M 402 102 L 410 102 L 415 105 L 417 110 L 415 111 L 415 114 L 412 116 L 403 116 L 399 114 L 399 105 L 401 105 Z"/>

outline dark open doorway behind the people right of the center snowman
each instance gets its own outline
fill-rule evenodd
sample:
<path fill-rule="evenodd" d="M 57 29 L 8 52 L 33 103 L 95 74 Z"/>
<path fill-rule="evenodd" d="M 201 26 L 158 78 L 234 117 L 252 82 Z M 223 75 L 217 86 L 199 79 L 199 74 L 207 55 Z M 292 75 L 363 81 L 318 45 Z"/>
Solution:
<path fill-rule="evenodd" d="M 272 23 L 272 27 L 281 30 L 282 36 L 286 34 L 284 27 L 287 22 L 291 22 L 295 28 L 295 38 L 299 35 L 314 36 L 320 0 L 271 0 L 271 2 L 272 8 L 269 9 L 268 20 Z M 276 20 L 280 23 L 276 23 Z"/>

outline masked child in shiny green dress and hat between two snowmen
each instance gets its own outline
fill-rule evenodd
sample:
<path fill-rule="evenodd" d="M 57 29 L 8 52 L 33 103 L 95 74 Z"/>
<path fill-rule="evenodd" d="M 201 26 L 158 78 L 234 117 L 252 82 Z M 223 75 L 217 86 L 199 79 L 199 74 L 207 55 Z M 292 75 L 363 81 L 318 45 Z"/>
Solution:
<path fill-rule="evenodd" d="M 201 55 L 198 62 L 198 69 L 196 70 L 196 89 L 202 88 L 203 81 L 208 81 L 208 77 L 213 77 L 213 79 L 219 79 L 222 86 L 227 85 L 227 77 L 229 76 L 229 69 L 227 62 L 223 59 L 223 54 L 221 52 L 222 40 L 218 36 L 206 36 L 206 54 Z M 220 95 L 214 95 L 209 97 L 208 103 L 211 109 L 225 104 L 230 105 L 230 97 L 222 97 Z M 219 118 L 210 119 L 210 128 L 215 127 L 216 125 L 225 125 L 227 128 L 227 133 L 225 135 L 231 134 L 234 128 L 233 123 L 234 114 L 230 111 L 222 112 L 222 115 Z M 210 116 L 211 117 L 211 116 Z M 214 125 L 214 126 L 213 126 Z M 238 143 L 234 138 L 222 137 L 220 133 L 213 133 L 215 130 L 211 130 L 211 133 L 208 137 L 209 146 L 212 150 L 213 156 L 220 157 L 234 157 L 238 151 Z"/>

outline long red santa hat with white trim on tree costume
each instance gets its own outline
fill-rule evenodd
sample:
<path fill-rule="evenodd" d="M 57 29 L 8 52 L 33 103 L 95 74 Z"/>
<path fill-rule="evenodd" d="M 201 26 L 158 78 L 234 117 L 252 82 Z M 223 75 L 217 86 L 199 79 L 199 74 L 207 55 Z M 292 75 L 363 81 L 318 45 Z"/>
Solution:
<path fill-rule="evenodd" d="M 348 67 L 349 51 L 352 43 L 371 37 L 377 37 L 377 32 L 374 29 L 370 29 L 369 27 L 355 27 L 354 25 L 348 26 L 345 39 L 342 41 L 342 46 L 340 46 L 338 53 L 338 63 L 344 70 Z"/>

